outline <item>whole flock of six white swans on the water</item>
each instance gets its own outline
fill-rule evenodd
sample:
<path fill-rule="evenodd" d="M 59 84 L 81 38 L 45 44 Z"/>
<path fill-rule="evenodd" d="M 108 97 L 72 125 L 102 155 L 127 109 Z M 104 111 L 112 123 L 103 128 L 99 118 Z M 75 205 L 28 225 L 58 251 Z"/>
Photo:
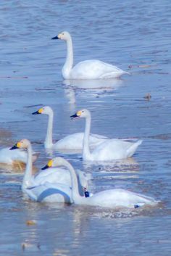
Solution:
<path fill-rule="evenodd" d="M 70 33 L 62 32 L 52 39 L 62 39 L 67 42 L 67 59 L 62 68 L 65 79 L 106 79 L 117 78 L 127 72 L 118 67 L 99 60 L 87 60 L 73 66 L 72 38 Z M 75 150 L 82 152 L 83 161 L 109 162 L 132 157 L 142 141 L 126 139 L 109 139 L 106 136 L 91 132 L 91 112 L 79 110 L 71 119 L 85 118 L 84 133 L 73 133 L 57 141 L 52 140 L 54 112 L 49 106 L 41 107 L 33 115 L 48 115 L 48 125 L 45 149 Z M 25 173 L 22 181 L 24 197 L 37 202 L 65 202 L 76 205 L 91 205 L 99 207 L 140 207 L 156 205 L 157 201 L 143 194 L 136 194 L 125 189 L 109 189 L 91 194 L 88 189 L 88 176 L 80 170 L 75 170 L 70 162 L 62 157 L 55 157 L 33 176 L 33 162 L 38 156 L 33 152 L 28 139 L 22 139 L 10 149 L 0 151 L 0 162 L 12 164 L 24 162 Z"/>

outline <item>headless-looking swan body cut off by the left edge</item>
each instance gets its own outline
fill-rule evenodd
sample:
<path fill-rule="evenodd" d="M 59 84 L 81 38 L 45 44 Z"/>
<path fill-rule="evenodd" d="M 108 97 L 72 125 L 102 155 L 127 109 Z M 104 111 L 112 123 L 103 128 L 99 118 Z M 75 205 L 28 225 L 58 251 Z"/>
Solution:
<path fill-rule="evenodd" d="M 23 149 L 17 149 L 15 152 L 5 147 L 0 149 L 0 166 L 4 169 L 12 168 L 14 170 L 23 170 L 28 159 L 28 154 Z M 35 162 L 38 158 L 38 154 L 33 152 L 32 160 Z"/>

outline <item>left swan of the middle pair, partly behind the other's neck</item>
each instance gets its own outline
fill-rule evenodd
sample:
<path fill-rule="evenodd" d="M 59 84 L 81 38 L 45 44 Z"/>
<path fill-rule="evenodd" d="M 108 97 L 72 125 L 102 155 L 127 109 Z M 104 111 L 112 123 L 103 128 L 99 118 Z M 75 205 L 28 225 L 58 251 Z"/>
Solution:
<path fill-rule="evenodd" d="M 57 149 L 57 150 L 82 150 L 83 149 L 83 136 L 84 133 L 73 133 L 60 139 L 55 144 L 52 142 L 52 128 L 54 120 L 54 112 L 49 106 L 41 107 L 33 115 L 43 114 L 49 116 L 48 128 L 46 132 L 46 139 L 44 141 L 44 146 L 46 149 Z M 105 136 L 100 136 L 98 134 L 90 135 L 90 147 L 101 144 L 101 142 L 106 141 L 108 138 Z"/>

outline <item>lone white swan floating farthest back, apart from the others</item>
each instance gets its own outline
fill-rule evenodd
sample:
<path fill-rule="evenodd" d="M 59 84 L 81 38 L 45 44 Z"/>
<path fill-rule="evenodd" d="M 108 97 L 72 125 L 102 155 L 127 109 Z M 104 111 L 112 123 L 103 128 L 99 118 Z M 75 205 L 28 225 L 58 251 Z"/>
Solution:
<path fill-rule="evenodd" d="M 101 62 L 98 59 L 89 59 L 73 66 L 72 38 L 70 33 L 64 31 L 51 39 L 62 39 L 67 42 L 67 59 L 62 68 L 64 79 L 109 79 L 129 74 L 120 68 Z"/>

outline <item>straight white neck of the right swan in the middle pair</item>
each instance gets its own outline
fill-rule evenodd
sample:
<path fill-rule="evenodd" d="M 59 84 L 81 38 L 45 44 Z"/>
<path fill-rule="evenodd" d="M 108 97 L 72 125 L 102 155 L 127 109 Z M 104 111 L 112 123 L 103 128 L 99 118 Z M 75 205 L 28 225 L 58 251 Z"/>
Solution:
<path fill-rule="evenodd" d="M 86 117 L 86 127 L 84 132 L 84 139 L 83 139 L 83 159 L 84 160 L 91 157 L 91 152 L 89 148 L 90 131 L 91 131 L 91 115 L 88 115 L 88 117 Z"/>

